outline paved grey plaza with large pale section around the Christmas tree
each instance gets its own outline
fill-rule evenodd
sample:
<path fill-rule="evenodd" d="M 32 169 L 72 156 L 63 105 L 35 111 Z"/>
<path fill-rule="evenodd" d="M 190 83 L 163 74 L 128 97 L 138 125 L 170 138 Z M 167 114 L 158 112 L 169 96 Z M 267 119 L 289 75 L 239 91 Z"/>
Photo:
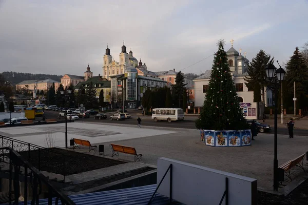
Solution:
<path fill-rule="evenodd" d="M 68 138 L 90 140 L 93 145 L 105 145 L 105 155 L 111 156 L 109 144 L 135 147 L 143 154 L 142 162 L 157 165 L 157 158 L 168 157 L 208 168 L 258 179 L 258 187 L 273 190 L 274 135 L 259 134 L 249 147 L 208 147 L 200 141 L 200 131 L 179 128 L 131 125 L 68 123 Z M 48 133 L 55 137 L 55 146 L 64 147 L 65 124 L 27 126 L 0 129 L 0 134 L 45 146 Z M 278 163 L 293 159 L 308 151 L 308 136 L 278 135 Z M 76 151 L 88 152 L 87 148 Z M 98 155 L 99 153 L 93 153 Z M 133 160 L 120 153 L 119 159 Z M 306 161 L 305 161 L 306 163 Z"/>

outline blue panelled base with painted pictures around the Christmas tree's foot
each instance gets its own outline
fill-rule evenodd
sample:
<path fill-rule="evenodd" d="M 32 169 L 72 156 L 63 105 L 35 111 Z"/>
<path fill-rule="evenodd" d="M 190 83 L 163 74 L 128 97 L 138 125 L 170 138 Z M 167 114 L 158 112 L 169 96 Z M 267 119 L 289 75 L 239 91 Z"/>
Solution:
<path fill-rule="evenodd" d="M 252 145 L 251 130 L 200 130 L 201 141 L 212 147 L 241 147 Z"/>

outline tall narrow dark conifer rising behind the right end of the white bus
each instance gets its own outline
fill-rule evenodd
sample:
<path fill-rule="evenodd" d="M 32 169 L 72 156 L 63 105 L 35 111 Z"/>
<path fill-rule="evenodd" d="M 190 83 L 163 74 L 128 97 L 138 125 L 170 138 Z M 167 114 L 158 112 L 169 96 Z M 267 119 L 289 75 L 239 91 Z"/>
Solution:
<path fill-rule="evenodd" d="M 181 108 L 184 88 L 187 85 L 187 84 L 184 84 L 185 76 L 183 73 L 181 73 L 181 71 L 177 73 L 175 81 L 176 81 L 176 84 L 172 85 L 172 93 L 174 93 L 175 105 L 178 108 Z"/>

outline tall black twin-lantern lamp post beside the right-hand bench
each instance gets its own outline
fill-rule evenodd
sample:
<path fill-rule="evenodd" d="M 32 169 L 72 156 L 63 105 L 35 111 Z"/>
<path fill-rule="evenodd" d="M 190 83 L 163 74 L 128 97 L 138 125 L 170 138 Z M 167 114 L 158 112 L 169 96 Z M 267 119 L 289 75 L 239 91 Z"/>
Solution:
<path fill-rule="evenodd" d="M 274 104 L 275 104 L 275 118 L 274 118 L 274 191 L 278 191 L 278 158 L 277 158 L 277 102 L 278 92 L 277 86 L 281 84 L 284 78 L 285 71 L 281 68 L 277 69 L 273 64 L 265 66 L 266 77 L 273 85 Z M 272 86 L 271 86 L 272 87 Z"/>

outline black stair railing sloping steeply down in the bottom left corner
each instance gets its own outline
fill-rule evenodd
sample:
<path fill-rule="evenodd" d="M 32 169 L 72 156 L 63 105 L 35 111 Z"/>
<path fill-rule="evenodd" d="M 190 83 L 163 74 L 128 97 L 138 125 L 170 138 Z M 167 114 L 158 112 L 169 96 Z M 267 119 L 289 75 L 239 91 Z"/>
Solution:
<path fill-rule="evenodd" d="M 33 167 L 27 160 L 25 160 L 18 152 L 12 148 L 0 148 L 2 152 L 7 153 L 9 158 L 9 204 L 20 204 L 18 198 L 22 195 L 24 197 L 24 204 L 28 204 L 28 186 L 30 185 L 32 194 L 29 192 L 31 204 L 39 204 L 40 195 L 42 193 L 48 195 L 48 205 L 58 204 L 75 204 L 65 194 L 57 190 L 48 178 L 46 178 L 40 171 Z M 20 186 L 20 181 L 24 185 Z M 13 182 L 13 183 L 12 183 Z M 44 186 L 43 186 L 44 185 Z M 14 191 L 12 191 L 12 186 Z M 24 192 L 21 192 L 21 187 L 24 186 Z M 45 190 L 43 190 L 45 189 Z M 12 198 L 14 193 L 14 198 Z M 46 195 L 45 195 L 46 196 Z M 42 198 L 42 197 L 41 197 Z M 45 198 L 45 197 L 44 197 Z"/>

